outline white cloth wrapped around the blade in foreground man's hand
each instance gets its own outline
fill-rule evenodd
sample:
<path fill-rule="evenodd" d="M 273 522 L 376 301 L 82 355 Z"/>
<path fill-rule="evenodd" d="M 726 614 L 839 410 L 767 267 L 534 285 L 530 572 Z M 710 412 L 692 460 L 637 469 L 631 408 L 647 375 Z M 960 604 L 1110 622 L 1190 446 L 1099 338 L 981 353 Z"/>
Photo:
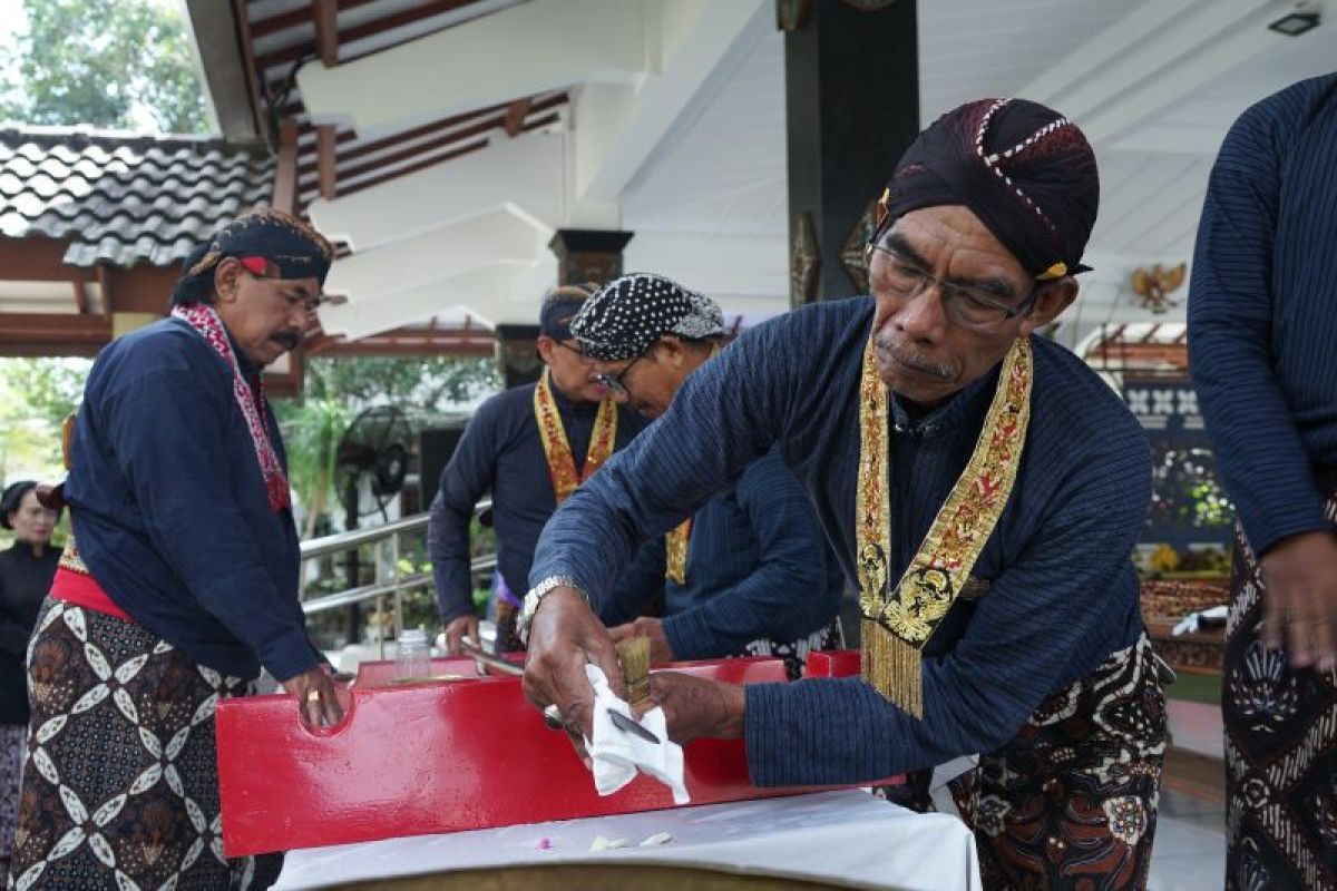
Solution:
<path fill-rule="evenodd" d="M 639 769 L 667 785 L 674 804 L 687 804 L 691 799 L 682 780 L 682 747 L 668 739 L 664 709 L 655 707 L 640 719 L 640 725 L 658 736 L 659 743 L 627 733 L 614 725 L 608 712 L 635 720 L 631 707 L 618 699 L 598 665 L 586 665 L 586 676 L 594 687 L 594 740 L 586 740 L 586 751 L 594 761 L 594 787 L 599 795 L 612 795 L 635 779 Z"/>

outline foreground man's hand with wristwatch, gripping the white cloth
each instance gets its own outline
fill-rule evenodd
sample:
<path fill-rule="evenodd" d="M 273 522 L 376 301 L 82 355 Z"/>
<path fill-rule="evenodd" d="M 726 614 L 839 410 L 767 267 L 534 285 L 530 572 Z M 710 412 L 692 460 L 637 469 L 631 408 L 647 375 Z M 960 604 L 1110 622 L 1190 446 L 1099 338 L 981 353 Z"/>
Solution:
<path fill-rule="evenodd" d="M 586 664 L 602 668 L 612 692 L 627 697 L 612 639 L 580 592 L 560 586 L 539 601 L 529 624 L 528 652 L 525 697 L 540 709 L 552 704 L 562 709 L 567 736 L 588 767 L 584 737 L 594 733 L 594 688 L 586 677 Z"/>

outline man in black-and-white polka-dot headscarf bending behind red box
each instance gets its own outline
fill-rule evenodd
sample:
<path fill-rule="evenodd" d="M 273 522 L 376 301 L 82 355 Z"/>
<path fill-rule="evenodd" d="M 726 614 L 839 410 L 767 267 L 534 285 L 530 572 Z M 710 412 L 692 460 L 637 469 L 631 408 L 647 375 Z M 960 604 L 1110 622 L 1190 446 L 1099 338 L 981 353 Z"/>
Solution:
<path fill-rule="evenodd" d="M 608 282 L 571 331 L 612 397 L 647 418 L 668 409 L 725 337 L 714 301 L 646 273 Z M 644 606 L 635 600 L 610 598 L 599 613 L 627 622 L 614 640 L 650 637 L 652 661 L 778 656 L 797 677 L 809 652 L 838 640 L 844 573 L 778 450 L 655 542 L 667 561 L 664 618 L 635 618 Z"/>

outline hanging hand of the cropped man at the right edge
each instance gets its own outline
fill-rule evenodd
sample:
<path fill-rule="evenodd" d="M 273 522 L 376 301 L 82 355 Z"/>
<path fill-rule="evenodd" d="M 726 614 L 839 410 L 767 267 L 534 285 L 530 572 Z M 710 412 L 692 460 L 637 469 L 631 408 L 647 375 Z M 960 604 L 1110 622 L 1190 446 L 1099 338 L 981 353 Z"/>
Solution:
<path fill-rule="evenodd" d="M 1263 641 L 1290 652 L 1293 668 L 1337 665 L 1337 536 L 1306 532 L 1262 556 Z"/>

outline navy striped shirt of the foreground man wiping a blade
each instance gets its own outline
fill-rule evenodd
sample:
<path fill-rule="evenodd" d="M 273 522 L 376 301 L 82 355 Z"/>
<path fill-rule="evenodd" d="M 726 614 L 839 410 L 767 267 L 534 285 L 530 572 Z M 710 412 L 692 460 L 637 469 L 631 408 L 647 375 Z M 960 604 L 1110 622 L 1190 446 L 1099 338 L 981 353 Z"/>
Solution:
<path fill-rule="evenodd" d="M 868 298 L 805 307 L 741 337 L 663 418 L 548 524 L 532 581 L 600 590 L 634 542 L 660 534 L 778 442 L 853 577 L 858 378 Z M 1035 394 L 1016 489 L 959 601 L 925 649 L 924 719 L 857 679 L 747 688 L 749 768 L 761 784 L 848 783 L 1007 743 L 1056 689 L 1142 631 L 1130 552 L 1151 497 L 1146 439 L 1078 357 L 1034 339 Z M 912 421 L 893 402 L 893 570 L 904 572 L 968 461 L 997 370 Z"/>

